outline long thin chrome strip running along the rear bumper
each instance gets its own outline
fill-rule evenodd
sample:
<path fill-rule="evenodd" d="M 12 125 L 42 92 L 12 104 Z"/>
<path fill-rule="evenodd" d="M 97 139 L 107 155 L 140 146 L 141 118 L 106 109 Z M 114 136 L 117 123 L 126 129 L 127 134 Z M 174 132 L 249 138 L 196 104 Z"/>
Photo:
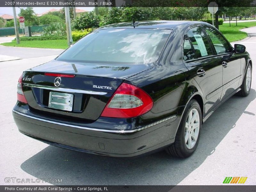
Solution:
<path fill-rule="evenodd" d="M 157 121 L 155 123 L 152 123 L 152 124 L 149 124 L 145 127 L 141 127 L 139 129 L 133 129 L 133 130 L 109 130 L 109 129 L 97 129 L 97 128 L 91 128 L 91 127 L 84 127 L 84 126 L 79 126 L 79 125 L 72 125 L 72 124 L 66 124 L 66 123 L 59 123 L 59 122 L 55 122 L 55 121 L 51 121 L 51 120 L 47 120 L 47 119 L 42 119 L 42 118 L 38 118 L 38 117 L 34 117 L 34 116 L 30 116 L 30 115 L 26 115 L 24 113 L 20 113 L 18 111 L 15 111 L 15 110 L 12 110 L 13 113 L 16 113 L 16 114 L 19 114 L 19 115 L 22 115 L 22 116 L 25 116 L 25 117 L 28 117 L 28 118 L 31 118 L 31 119 L 36 119 L 38 121 L 43 121 L 43 122 L 47 122 L 47 123 L 52 123 L 52 124 L 57 124 L 57 125 L 62 125 L 62 126 L 67 126 L 67 127 L 73 127 L 73 128 L 79 128 L 79 129 L 86 129 L 86 130 L 91 130 L 91 131 L 101 131 L 101 132 L 108 132 L 108 133 L 133 133 L 133 132 L 138 132 L 138 131 L 141 131 L 143 129 L 147 129 L 151 126 L 154 126 L 156 124 L 159 124 L 159 123 L 163 123 L 164 121 L 167 121 L 169 119 L 172 119 L 174 117 L 176 117 L 177 115 L 174 115 L 174 116 L 170 116 L 168 118 L 165 118 L 165 119 L 162 119 L 160 121 Z"/>

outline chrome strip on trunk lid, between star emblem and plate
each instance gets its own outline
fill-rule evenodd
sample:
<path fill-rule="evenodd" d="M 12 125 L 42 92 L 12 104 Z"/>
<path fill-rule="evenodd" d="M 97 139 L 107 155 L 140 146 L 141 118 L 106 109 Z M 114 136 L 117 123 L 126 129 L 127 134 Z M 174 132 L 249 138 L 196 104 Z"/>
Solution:
<path fill-rule="evenodd" d="M 23 85 L 28 86 L 28 87 L 35 87 L 35 88 L 39 88 L 39 89 L 48 89 L 48 90 L 52 90 L 52 91 L 60 91 L 60 92 L 66 92 L 66 93 L 84 93 L 84 94 L 91 94 L 91 95 L 106 95 L 107 94 L 107 92 L 68 89 L 68 88 L 61 88 L 61 87 L 52 87 L 52 86 L 47 86 L 47 85 L 29 84 L 29 83 L 23 83 Z"/>

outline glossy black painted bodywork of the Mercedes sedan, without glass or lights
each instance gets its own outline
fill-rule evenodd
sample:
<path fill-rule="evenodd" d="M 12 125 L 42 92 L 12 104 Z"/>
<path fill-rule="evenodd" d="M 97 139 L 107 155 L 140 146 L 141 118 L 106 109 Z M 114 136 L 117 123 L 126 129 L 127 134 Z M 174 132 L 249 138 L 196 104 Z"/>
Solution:
<path fill-rule="evenodd" d="M 245 70 L 251 63 L 247 52 L 232 52 L 213 55 L 186 62 L 183 60 L 184 35 L 195 26 L 212 27 L 204 22 L 192 21 L 143 21 L 136 28 L 161 28 L 172 30 L 159 59 L 149 65 L 97 65 L 91 63 L 69 63 L 52 60 L 31 68 L 23 77 L 32 83 L 54 86 L 55 77 L 44 76 L 44 72 L 75 74 L 74 78 L 62 78 L 63 88 L 89 91 L 107 91 L 106 95 L 76 94 L 76 109 L 72 112 L 48 108 L 42 100 L 42 90 L 23 86 L 29 105 L 17 102 L 14 111 L 38 118 L 79 125 L 102 130 L 136 130 L 170 116 L 175 118 L 130 134 L 88 131 L 68 126 L 53 125 L 13 113 L 19 130 L 33 138 L 56 146 L 73 148 L 98 155 L 136 156 L 174 142 L 180 119 L 189 100 L 196 99 L 205 121 L 225 100 L 239 91 Z M 108 25 L 107 28 L 133 28 L 131 23 Z M 136 29 L 135 28 L 135 29 Z M 223 61 L 227 66 L 223 66 Z M 203 69 L 204 76 L 197 71 Z M 106 103 L 121 83 L 142 88 L 154 101 L 146 114 L 128 118 L 106 118 L 100 114 Z M 92 85 L 112 86 L 112 90 L 98 90 Z M 45 90 L 43 90 L 44 92 Z M 49 94 L 45 92 L 44 94 Z M 80 104 L 80 105 L 79 105 Z M 104 144 L 104 149 L 100 143 Z M 116 147 L 118 146 L 118 147 Z"/>

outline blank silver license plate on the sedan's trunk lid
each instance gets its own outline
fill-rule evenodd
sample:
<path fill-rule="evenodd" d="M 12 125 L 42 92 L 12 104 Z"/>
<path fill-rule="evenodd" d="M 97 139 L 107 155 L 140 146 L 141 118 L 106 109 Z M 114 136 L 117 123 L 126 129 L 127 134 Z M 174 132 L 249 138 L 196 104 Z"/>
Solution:
<path fill-rule="evenodd" d="M 73 94 L 50 92 L 48 107 L 65 111 L 72 111 L 73 97 Z"/>

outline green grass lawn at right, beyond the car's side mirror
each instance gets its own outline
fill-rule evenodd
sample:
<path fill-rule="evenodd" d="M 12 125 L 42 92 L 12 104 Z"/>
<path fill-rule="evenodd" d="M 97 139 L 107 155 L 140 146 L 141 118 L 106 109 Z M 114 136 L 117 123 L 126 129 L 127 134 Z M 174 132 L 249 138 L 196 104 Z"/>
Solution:
<path fill-rule="evenodd" d="M 253 26 L 256 26 L 256 21 L 237 23 L 237 26 L 236 23 L 231 23 L 231 27 L 229 27 L 229 23 L 223 23 L 223 25 L 220 25 L 220 32 L 228 39 L 229 42 L 234 42 L 247 37 L 247 33 L 239 31 L 240 29 Z"/>

